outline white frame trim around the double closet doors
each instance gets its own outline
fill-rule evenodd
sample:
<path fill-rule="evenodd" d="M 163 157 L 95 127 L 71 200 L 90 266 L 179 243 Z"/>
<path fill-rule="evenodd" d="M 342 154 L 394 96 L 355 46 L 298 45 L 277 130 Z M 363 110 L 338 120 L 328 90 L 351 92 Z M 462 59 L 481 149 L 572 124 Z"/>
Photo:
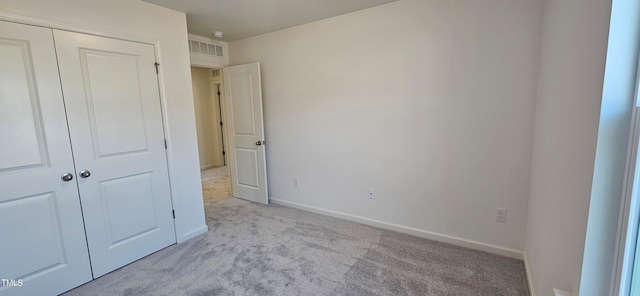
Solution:
<path fill-rule="evenodd" d="M 136 34 L 106 32 L 106 31 L 96 30 L 90 27 L 70 25 L 70 24 L 66 24 L 58 21 L 39 19 L 39 18 L 22 16 L 22 15 L 15 15 L 15 14 L 10 14 L 10 13 L 1 12 L 1 11 L 0 11 L 0 21 L 7 21 L 7 22 L 18 23 L 23 25 L 44 27 L 44 28 L 49 28 L 54 30 L 69 31 L 69 32 L 82 33 L 82 34 L 93 35 L 98 37 L 106 37 L 111 39 L 148 44 L 153 46 L 153 54 L 155 56 L 156 62 L 162 65 L 162 56 L 160 55 L 160 52 L 161 52 L 160 40 L 155 38 L 149 38 L 147 36 L 136 35 Z M 170 143 L 171 137 L 167 132 L 168 117 L 167 117 L 166 110 L 168 110 L 168 105 L 166 100 L 165 79 L 164 79 L 162 67 L 158 67 L 157 79 L 158 79 L 158 96 L 160 98 L 160 112 L 161 112 L 161 118 L 162 118 L 162 133 L 164 135 L 165 140 Z M 171 157 L 171 155 L 172 155 L 171 149 L 168 149 L 168 148 L 165 149 L 165 159 L 167 161 L 167 173 L 169 175 L 169 195 L 171 196 L 171 207 L 173 210 L 175 210 L 174 196 L 177 196 L 177 194 L 174 194 L 175 189 L 172 186 L 172 183 L 173 183 L 172 181 L 179 174 L 173 173 L 173 161 L 172 161 L 173 157 Z M 184 238 L 184 236 L 181 237 L 178 235 L 178 232 L 177 232 L 178 228 L 176 227 L 176 219 L 177 218 L 174 218 L 174 221 L 173 221 L 174 236 L 175 236 L 176 242 L 181 243 L 186 239 L 181 240 L 181 238 Z M 195 235 L 198 235 L 198 234 L 200 233 L 196 233 Z M 193 236 L 189 236 L 188 238 L 191 238 Z"/>

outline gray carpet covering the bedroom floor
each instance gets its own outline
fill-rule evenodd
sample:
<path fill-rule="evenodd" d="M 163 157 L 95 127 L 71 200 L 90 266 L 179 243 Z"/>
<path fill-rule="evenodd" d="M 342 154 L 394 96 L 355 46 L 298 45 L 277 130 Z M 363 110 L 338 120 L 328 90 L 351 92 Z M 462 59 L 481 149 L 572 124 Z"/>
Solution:
<path fill-rule="evenodd" d="M 65 295 L 528 295 L 520 260 L 234 198 L 205 211 L 208 233 Z"/>

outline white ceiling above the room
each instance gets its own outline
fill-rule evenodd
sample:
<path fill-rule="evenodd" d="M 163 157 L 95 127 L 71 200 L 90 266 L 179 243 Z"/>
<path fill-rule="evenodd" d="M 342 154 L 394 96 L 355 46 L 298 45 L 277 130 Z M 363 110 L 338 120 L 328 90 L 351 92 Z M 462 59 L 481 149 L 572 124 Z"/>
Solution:
<path fill-rule="evenodd" d="M 397 0 L 144 0 L 187 13 L 191 34 L 234 41 Z"/>

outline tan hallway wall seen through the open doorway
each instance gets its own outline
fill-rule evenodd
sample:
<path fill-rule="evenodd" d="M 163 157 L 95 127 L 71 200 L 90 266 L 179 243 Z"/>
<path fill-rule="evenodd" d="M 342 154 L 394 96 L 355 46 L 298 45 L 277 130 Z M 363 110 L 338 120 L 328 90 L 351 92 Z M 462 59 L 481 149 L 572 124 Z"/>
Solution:
<path fill-rule="evenodd" d="M 200 168 L 223 166 L 218 98 L 211 70 L 191 67 Z"/>

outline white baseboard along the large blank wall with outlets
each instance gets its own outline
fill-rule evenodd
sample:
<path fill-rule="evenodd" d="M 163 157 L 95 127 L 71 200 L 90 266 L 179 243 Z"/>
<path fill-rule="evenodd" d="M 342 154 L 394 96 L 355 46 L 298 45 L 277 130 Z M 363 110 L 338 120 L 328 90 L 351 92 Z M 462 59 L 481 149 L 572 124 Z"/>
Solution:
<path fill-rule="evenodd" d="M 365 218 L 365 217 L 361 217 L 361 216 L 356 216 L 356 215 L 336 212 L 336 211 L 332 211 L 332 210 L 321 209 L 321 208 L 318 208 L 318 207 L 303 205 L 303 204 L 299 204 L 299 203 L 296 203 L 296 202 L 291 202 L 291 201 L 283 200 L 283 199 L 277 199 L 277 198 L 271 198 L 270 197 L 269 200 L 271 202 L 275 203 L 275 204 L 288 206 L 288 207 L 292 207 L 292 208 L 296 208 L 296 209 L 301 209 L 301 210 L 305 210 L 305 211 L 309 211 L 309 212 L 313 212 L 313 213 L 317 213 L 317 214 L 327 215 L 327 216 L 331 216 L 331 217 L 341 218 L 341 219 L 345 219 L 345 220 L 349 220 L 349 221 L 353 221 L 353 222 L 358 222 L 358 223 L 366 224 L 366 225 L 377 227 L 377 228 L 381 228 L 381 229 L 402 232 L 402 233 L 406 233 L 406 234 L 410 234 L 410 235 L 414 235 L 414 236 L 418 236 L 418 237 L 422 237 L 422 238 L 426 238 L 426 239 L 431 239 L 431 240 L 435 240 L 435 241 L 439 241 L 439 242 L 449 243 L 449 244 L 456 245 L 456 246 L 461 246 L 461 247 L 470 248 L 470 249 L 474 249 L 474 250 L 484 251 L 484 252 L 487 252 L 487 253 L 492 253 L 492 254 L 511 257 L 511 258 L 516 258 L 516 259 L 520 259 L 520 260 L 523 260 L 523 258 L 524 258 L 523 252 L 520 251 L 520 250 L 516 250 L 516 249 L 505 248 L 505 247 L 501 247 L 501 246 L 497 246 L 497 245 L 487 244 L 487 243 L 483 243 L 483 242 L 479 242 L 479 241 L 475 241 L 475 240 L 470 240 L 470 239 L 465 239 L 465 238 L 461 238 L 461 237 L 456 237 L 456 236 L 452 236 L 452 235 L 447 235 L 447 234 L 437 233 L 437 232 L 433 232 L 433 231 L 417 229 L 417 228 L 408 227 L 408 226 L 404 226 L 404 225 L 388 223 L 388 222 L 384 222 L 384 221 L 379 221 L 379 220 Z"/>

